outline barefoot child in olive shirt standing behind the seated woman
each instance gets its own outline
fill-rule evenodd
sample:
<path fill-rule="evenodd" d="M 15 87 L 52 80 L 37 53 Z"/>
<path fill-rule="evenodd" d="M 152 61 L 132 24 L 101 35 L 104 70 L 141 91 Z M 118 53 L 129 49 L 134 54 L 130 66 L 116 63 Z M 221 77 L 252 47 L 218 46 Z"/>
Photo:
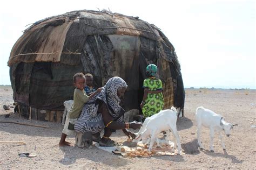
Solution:
<path fill-rule="evenodd" d="M 74 124 L 77 120 L 77 118 L 80 115 L 80 112 L 84 106 L 84 103 L 86 103 L 90 98 L 98 94 L 102 89 L 98 88 L 94 93 L 92 93 L 90 96 L 87 96 L 84 87 L 85 87 L 85 76 L 83 73 L 76 73 L 73 76 L 73 84 L 76 87 L 74 91 L 74 102 L 70 109 L 69 114 L 67 115 L 66 122 L 64 125 L 64 129 L 62 131 L 62 137 L 59 141 L 59 146 L 70 146 L 70 143 L 65 141 L 66 136 L 71 135 L 74 131 Z"/>

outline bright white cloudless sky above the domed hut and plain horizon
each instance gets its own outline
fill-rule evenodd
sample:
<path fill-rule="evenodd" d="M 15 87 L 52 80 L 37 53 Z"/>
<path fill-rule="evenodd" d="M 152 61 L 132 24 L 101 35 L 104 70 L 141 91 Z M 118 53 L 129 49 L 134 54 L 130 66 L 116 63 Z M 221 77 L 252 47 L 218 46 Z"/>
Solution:
<path fill-rule="evenodd" d="M 185 87 L 256 88 L 255 1 L 2 1 L 0 84 L 10 84 L 7 61 L 26 25 L 74 10 L 138 16 L 176 48 Z"/>

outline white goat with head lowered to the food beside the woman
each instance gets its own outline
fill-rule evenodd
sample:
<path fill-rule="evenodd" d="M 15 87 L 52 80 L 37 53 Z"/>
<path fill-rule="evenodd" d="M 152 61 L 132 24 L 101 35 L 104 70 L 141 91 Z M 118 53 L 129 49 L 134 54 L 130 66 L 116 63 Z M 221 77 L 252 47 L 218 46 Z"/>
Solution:
<path fill-rule="evenodd" d="M 178 154 L 180 154 L 180 138 L 176 128 L 177 122 L 177 111 L 174 107 L 166 110 L 161 110 L 158 114 L 152 115 L 145 119 L 142 128 L 138 132 L 137 138 L 134 140 L 138 142 L 142 139 L 143 144 L 147 143 L 147 140 L 150 138 L 149 151 L 151 151 L 154 141 L 157 140 L 157 134 L 162 131 L 169 132 L 172 131 L 175 140 L 172 152 L 177 146 L 178 143 Z M 157 140 L 159 143 L 159 140 Z"/>

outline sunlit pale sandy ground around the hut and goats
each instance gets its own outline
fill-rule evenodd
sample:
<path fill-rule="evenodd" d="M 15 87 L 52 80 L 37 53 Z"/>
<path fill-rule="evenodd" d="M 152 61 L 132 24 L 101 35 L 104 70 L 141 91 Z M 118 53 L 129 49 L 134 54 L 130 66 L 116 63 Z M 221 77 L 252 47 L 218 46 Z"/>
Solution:
<path fill-rule="evenodd" d="M 246 95 L 247 94 L 247 95 Z M 12 89 L 0 86 L 0 121 L 15 121 L 50 126 L 36 128 L 11 123 L 0 123 L 0 140 L 24 141 L 26 145 L 0 143 L 0 169 L 57 169 L 57 168 L 111 168 L 111 169 L 255 169 L 256 168 L 256 91 L 186 89 L 185 117 L 179 118 L 177 128 L 181 143 L 196 139 L 196 108 L 204 106 L 224 116 L 234 126 L 230 137 L 224 137 L 226 152 L 221 148 L 217 135 L 214 138 L 215 152 L 210 152 L 209 130 L 204 128 L 201 139 L 206 150 L 193 154 L 161 156 L 151 158 L 122 158 L 93 146 L 89 149 L 59 147 L 63 126 L 60 123 L 28 121 L 5 111 L 3 104 L 12 105 Z M 10 113 L 9 118 L 5 118 Z M 113 140 L 125 140 L 120 131 L 113 134 Z M 72 144 L 75 138 L 69 137 Z M 18 153 L 36 153 L 33 158 L 19 157 Z"/>

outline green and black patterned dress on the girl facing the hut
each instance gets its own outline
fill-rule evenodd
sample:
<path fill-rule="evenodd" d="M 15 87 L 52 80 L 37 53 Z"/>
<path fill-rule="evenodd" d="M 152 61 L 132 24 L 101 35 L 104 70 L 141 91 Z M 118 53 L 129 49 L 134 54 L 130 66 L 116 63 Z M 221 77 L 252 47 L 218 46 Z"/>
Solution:
<path fill-rule="evenodd" d="M 163 89 L 163 84 L 160 79 L 145 79 L 143 82 L 143 88 L 148 88 L 149 90 L 160 90 Z M 164 109 L 164 97 L 163 93 L 147 94 L 145 104 L 142 108 L 143 115 L 145 117 L 150 117 L 157 114 L 160 110 Z"/>

